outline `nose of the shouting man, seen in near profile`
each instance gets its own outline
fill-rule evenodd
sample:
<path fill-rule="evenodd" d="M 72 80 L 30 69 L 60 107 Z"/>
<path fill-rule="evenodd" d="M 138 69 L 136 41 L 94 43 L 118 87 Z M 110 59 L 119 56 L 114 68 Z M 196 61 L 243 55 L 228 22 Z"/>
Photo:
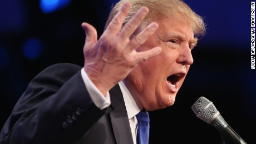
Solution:
<path fill-rule="evenodd" d="M 180 55 L 177 59 L 177 63 L 181 63 L 183 65 L 191 65 L 193 64 L 193 62 L 194 62 L 194 59 L 189 46 L 180 48 Z"/>

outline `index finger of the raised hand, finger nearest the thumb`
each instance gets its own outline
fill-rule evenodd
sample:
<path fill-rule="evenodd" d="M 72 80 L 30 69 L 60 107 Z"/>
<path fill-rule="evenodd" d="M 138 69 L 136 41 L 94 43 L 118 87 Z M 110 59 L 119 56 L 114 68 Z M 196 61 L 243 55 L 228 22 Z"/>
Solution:
<path fill-rule="evenodd" d="M 116 36 L 117 33 L 120 32 L 122 22 L 125 20 L 125 17 L 129 13 L 130 8 L 131 8 L 131 4 L 129 2 L 126 2 L 122 5 L 120 11 L 116 14 L 116 16 L 109 23 L 109 26 L 107 26 L 107 28 L 105 30 L 105 32 L 107 34 L 114 34 Z"/>

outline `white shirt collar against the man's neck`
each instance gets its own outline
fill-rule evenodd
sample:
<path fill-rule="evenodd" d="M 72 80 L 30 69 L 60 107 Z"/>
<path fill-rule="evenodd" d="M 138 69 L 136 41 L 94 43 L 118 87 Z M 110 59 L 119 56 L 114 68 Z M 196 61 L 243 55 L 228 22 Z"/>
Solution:
<path fill-rule="evenodd" d="M 129 90 L 125 83 L 120 81 L 119 82 L 120 89 L 122 91 L 122 95 L 125 101 L 125 107 L 127 111 L 128 118 L 132 118 L 137 115 L 142 110 L 142 104 L 135 95 L 131 95 L 131 90 Z"/>

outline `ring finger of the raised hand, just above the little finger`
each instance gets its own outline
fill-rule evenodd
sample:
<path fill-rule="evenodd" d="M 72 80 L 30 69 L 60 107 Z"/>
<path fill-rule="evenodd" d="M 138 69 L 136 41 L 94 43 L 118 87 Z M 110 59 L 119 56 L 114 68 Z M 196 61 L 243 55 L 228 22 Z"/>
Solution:
<path fill-rule="evenodd" d="M 129 43 L 128 48 L 130 51 L 136 49 L 139 47 L 141 44 L 143 44 L 147 38 L 149 38 L 158 28 L 158 24 L 156 22 L 152 22 L 147 26 L 145 29 L 143 29 L 142 32 L 137 34 L 134 38 L 131 39 L 131 42 Z"/>

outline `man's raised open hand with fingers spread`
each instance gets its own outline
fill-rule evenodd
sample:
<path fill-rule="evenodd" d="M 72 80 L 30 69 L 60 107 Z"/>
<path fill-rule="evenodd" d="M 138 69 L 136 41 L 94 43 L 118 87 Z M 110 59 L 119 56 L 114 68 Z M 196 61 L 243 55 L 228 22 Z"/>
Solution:
<path fill-rule="evenodd" d="M 156 31 L 158 24 L 152 22 L 137 36 L 130 39 L 131 34 L 149 12 L 148 8 L 141 7 L 121 29 L 122 22 L 130 8 L 130 3 L 124 3 L 99 40 L 97 40 L 96 29 L 91 24 L 82 23 L 82 28 L 86 32 L 83 48 L 84 68 L 90 80 L 103 95 L 123 80 L 138 63 L 161 52 L 160 47 L 151 48 L 148 51 L 136 51 L 136 48 L 140 47 Z"/>

